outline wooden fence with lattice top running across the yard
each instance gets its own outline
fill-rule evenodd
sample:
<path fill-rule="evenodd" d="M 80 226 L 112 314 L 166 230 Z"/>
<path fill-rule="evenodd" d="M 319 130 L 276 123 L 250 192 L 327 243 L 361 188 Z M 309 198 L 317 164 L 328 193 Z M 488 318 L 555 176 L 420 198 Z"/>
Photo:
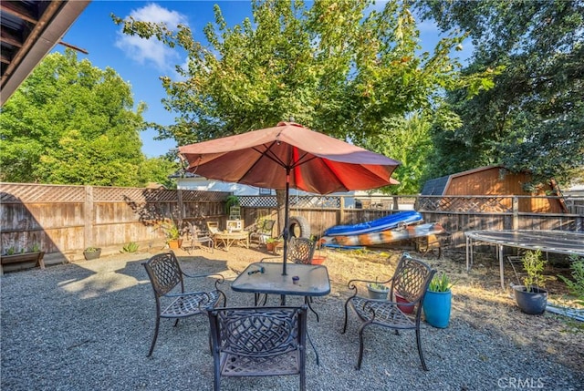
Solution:
<path fill-rule="evenodd" d="M 46 261 L 76 261 L 86 247 L 101 247 L 103 253 L 120 252 L 137 242 L 142 248 L 161 248 L 164 236 L 156 224 L 164 218 L 177 221 L 219 221 L 224 228 L 224 201 L 230 193 L 196 190 L 163 190 L 92 186 L 0 183 L 1 252 L 15 252 L 36 243 L 47 252 Z M 514 197 L 395 196 L 366 197 L 363 208 L 350 198 L 298 196 L 290 199 L 292 216 L 308 221 L 311 234 L 319 236 L 328 227 L 375 220 L 404 209 L 415 209 L 424 221 L 441 222 L 452 234 L 454 247 L 464 245 L 469 230 L 562 230 L 584 232 L 584 198 L 566 203 L 568 213 L 520 212 Z M 277 220 L 276 197 L 242 196 L 242 219 L 251 226 L 257 218 Z M 509 199 L 511 199 L 509 201 Z M 512 205 L 485 211 L 485 205 Z M 346 207 L 346 204 L 351 207 Z M 450 205 L 445 210 L 443 205 Z M 456 205 L 454 207 L 453 205 Z M 277 225 L 274 234 L 277 234 Z"/>

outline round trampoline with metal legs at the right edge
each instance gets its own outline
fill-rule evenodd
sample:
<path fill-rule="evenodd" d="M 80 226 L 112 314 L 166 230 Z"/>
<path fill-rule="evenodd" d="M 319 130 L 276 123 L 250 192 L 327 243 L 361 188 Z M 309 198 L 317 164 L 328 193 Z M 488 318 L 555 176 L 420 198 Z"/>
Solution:
<path fill-rule="evenodd" d="M 505 289 L 503 276 L 503 247 L 516 247 L 542 252 L 576 254 L 584 256 L 584 232 L 574 231 L 468 231 L 466 237 L 466 271 L 473 266 L 473 241 L 494 243 L 497 246 L 501 288 Z"/>

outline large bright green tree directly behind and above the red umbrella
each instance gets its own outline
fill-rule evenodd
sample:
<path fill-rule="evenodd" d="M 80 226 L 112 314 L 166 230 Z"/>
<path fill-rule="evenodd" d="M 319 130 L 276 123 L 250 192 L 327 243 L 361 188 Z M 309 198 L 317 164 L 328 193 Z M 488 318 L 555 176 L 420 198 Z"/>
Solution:
<path fill-rule="evenodd" d="M 384 144 L 381 135 L 400 139 L 392 132 L 412 112 L 432 110 L 443 88 L 476 89 L 485 75 L 457 77 L 450 52 L 463 36 L 444 38 L 433 55 L 418 54 L 408 4 L 390 1 L 367 14 L 370 4 L 322 1 L 307 9 L 301 1 L 254 1 L 253 22 L 233 28 L 215 5 L 215 24 L 204 28 L 208 46 L 188 26 L 172 31 L 112 18 L 125 34 L 157 38 L 188 54 L 188 66 L 177 66 L 181 79 L 161 77 L 163 103 L 178 115 L 176 124 L 159 129 L 163 138 L 184 145 L 294 118 L 375 149 Z"/>

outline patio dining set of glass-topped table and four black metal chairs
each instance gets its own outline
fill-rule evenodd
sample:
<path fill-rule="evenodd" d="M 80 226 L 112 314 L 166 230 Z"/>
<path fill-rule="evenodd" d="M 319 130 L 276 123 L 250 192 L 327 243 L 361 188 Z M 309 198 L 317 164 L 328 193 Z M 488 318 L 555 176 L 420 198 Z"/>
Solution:
<path fill-rule="evenodd" d="M 214 389 L 219 390 L 225 376 L 299 376 L 299 388 L 306 389 L 307 341 L 318 361 L 317 347 L 308 330 L 308 310 L 316 315 L 313 299 L 330 293 L 328 270 L 324 265 L 311 264 L 314 243 L 303 238 L 291 238 L 287 246 L 290 264 L 274 258 L 252 262 L 240 273 L 231 289 L 253 293 L 254 306 L 227 306 L 220 273 L 187 274 L 183 272 L 174 252 L 153 255 L 142 263 L 148 273 L 156 299 L 156 322 L 148 356 L 154 351 L 161 319 L 174 319 L 203 314 L 209 320 L 209 348 L 214 362 Z M 308 252 L 306 251 L 308 245 Z M 284 272 L 286 271 L 286 272 Z M 344 305 L 344 327 L 347 331 L 349 308 L 360 320 L 360 352 L 356 369 L 360 369 L 364 351 L 363 331 L 370 324 L 399 330 L 415 330 L 422 368 L 427 370 L 420 341 L 422 300 L 435 271 L 421 260 L 403 253 L 391 280 L 387 300 L 369 299 L 359 293 L 362 280 L 348 284 L 351 295 Z M 213 288 L 187 289 L 197 280 L 214 280 Z M 207 282 L 210 280 L 206 280 Z M 266 305 L 267 295 L 279 295 L 279 305 Z M 395 294 L 408 300 L 398 306 Z M 287 295 L 303 296 L 304 304 L 287 306 Z M 410 311 L 413 310 L 413 311 Z"/>

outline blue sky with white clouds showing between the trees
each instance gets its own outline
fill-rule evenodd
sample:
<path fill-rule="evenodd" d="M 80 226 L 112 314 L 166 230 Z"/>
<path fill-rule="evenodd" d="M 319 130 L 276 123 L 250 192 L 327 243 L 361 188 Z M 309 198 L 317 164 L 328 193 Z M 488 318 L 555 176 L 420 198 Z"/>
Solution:
<path fill-rule="evenodd" d="M 228 26 L 240 24 L 245 17 L 251 18 L 249 1 L 100 1 L 93 0 L 85 11 L 79 15 L 63 41 L 79 46 L 89 55 L 78 53 L 78 58 L 87 58 L 94 67 L 113 68 L 122 79 L 130 83 L 134 102 L 145 102 L 148 110 L 144 119 L 162 125 L 172 124 L 174 115 L 162 108 L 161 99 L 166 93 L 159 77 L 174 75 L 174 66 L 183 64 L 185 57 L 177 50 L 169 49 L 153 41 L 142 40 L 121 34 L 110 14 L 125 18 L 133 15 L 137 19 L 152 22 L 166 22 L 168 26 L 186 23 L 191 27 L 193 36 L 204 41 L 203 27 L 214 22 L 213 7 L 221 7 Z M 382 6 L 377 2 L 377 6 Z M 440 39 L 438 30 L 430 23 L 420 25 L 421 44 L 424 50 L 432 51 Z M 466 57 L 470 48 L 459 56 Z M 56 46 L 54 51 L 63 52 L 64 46 Z M 141 132 L 142 151 L 148 157 L 165 154 L 175 148 L 174 140 L 154 140 L 155 130 Z"/>

